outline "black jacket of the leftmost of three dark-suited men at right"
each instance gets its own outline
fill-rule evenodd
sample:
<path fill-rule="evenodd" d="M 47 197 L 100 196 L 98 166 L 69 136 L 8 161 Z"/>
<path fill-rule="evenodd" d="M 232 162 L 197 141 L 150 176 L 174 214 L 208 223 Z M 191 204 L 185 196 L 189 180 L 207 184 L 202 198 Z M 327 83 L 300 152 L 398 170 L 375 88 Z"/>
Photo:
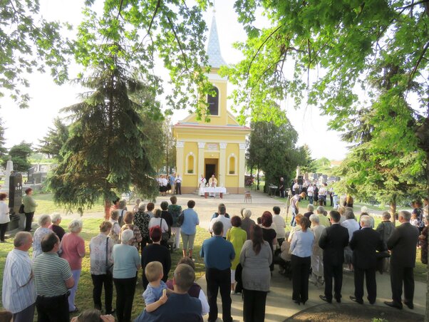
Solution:
<path fill-rule="evenodd" d="M 344 262 L 344 247 L 348 245 L 348 230 L 340 224 L 326 227 L 319 239 L 324 250 L 324 265 L 341 265 Z"/>

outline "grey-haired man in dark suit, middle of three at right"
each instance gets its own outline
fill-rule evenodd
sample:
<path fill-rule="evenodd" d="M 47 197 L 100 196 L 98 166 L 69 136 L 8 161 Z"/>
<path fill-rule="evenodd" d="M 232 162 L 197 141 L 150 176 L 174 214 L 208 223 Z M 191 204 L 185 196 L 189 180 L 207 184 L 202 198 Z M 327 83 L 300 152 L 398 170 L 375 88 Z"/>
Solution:
<path fill-rule="evenodd" d="M 363 304 L 363 277 L 366 278 L 366 291 L 368 301 L 376 303 L 376 251 L 383 251 L 384 245 L 381 235 L 371 228 L 371 217 L 361 217 L 361 230 L 353 232 L 350 240 L 350 248 L 353 250 L 354 267 L 354 296 L 351 301 Z"/>

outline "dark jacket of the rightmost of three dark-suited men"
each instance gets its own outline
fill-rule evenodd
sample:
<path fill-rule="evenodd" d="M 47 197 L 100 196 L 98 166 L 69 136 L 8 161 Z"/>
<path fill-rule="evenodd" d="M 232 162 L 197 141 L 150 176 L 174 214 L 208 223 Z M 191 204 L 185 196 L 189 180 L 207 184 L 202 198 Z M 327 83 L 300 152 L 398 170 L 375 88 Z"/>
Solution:
<path fill-rule="evenodd" d="M 391 250 L 391 265 L 415 266 L 415 245 L 417 245 L 418 235 L 418 228 L 409 222 L 404 222 L 393 230 L 387 241 L 388 249 Z"/>

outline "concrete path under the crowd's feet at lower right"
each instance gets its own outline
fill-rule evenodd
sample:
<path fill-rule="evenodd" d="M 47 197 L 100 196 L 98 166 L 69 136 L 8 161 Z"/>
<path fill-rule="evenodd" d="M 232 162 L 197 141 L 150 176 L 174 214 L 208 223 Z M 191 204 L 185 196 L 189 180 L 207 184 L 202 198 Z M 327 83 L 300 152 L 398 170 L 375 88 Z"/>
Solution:
<path fill-rule="evenodd" d="M 205 276 L 198 279 L 198 284 L 204 289 L 207 294 L 207 284 L 205 281 Z M 382 311 L 384 308 L 388 308 L 383 301 L 391 301 L 391 282 L 390 276 L 388 274 L 378 274 L 377 273 L 377 301 L 376 306 L 380 307 Z M 415 296 L 414 296 L 414 313 L 421 315 L 425 314 L 425 292 L 426 285 L 421 282 L 415 282 Z M 343 274 L 343 291 L 342 291 L 342 301 L 343 303 L 353 303 L 353 301 L 348 298 L 354 293 L 354 284 L 353 284 L 353 273 L 344 273 Z M 306 302 L 306 305 L 297 305 L 292 301 L 292 283 L 286 277 L 278 273 L 278 267 L 274 267 L 274 272 L 271 280 L 271 290 L 267 296 L 267 305 L 265 313 L 266 322 L 279 322 L 284 321 L 286 318 L 293 316 L 295 313 L 298 313 L 301 310 L 305 310 L 311 306 L 317 306 L 319 304 L 324 304 L 326 302 L 321 301 L 319 295 L 324 294 L 323 287 L 318 289 L 313 284 L 309 284 L 309 301 Z M 242 296 L 232 295 L 232 317 L 234 321 L 243 321 L 243 301 Z M 369 306 L 371 304 L 366 301 L 366 292 L 364 296 L 365 303 L 364 306 Z M 355 303 L 356 306 L 361 304 Z M 341 303 L 332 303 L 333 306 L 341 306 Z M 217 306 L 219 310 L 219 318 L 217 321 L 222 321 L 222 301 L 220 296 L 217 298 Z M 403 310 L 409 310 L 404 306 Z M 205 321 L 207 321 L 207 316 L 205 316 Z"/>

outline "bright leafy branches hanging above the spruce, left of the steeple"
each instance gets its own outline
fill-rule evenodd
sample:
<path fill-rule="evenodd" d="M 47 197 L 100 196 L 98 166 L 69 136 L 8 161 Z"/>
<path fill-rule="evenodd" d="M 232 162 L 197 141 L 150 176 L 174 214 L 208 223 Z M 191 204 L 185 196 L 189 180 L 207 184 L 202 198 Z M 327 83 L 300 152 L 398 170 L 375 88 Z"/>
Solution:
<path fill-rule="evenodd" d="M 116 59 L 138 70 L 139 76 L 153 91 L 162 95 L 162 79 L 154 71 L 155 57 L 161 58 L 170 71 L 172 90 L 165 95 L 167 114 L 174 108 L 205 112 L 205 94 L 212 85 L 205 73 L 205 31 L 202 10 L 206 1 L 188 6 L 186 1 L 105 1 L 103 12 L 91 9 L 87 1 L 84 20 L 78 28 L 76 61 L 87 68 L 115 68 Z M 148 113 L 151 111 L 148 109 Z M 152 111 L 159 114 L 155 108 Z"/>

